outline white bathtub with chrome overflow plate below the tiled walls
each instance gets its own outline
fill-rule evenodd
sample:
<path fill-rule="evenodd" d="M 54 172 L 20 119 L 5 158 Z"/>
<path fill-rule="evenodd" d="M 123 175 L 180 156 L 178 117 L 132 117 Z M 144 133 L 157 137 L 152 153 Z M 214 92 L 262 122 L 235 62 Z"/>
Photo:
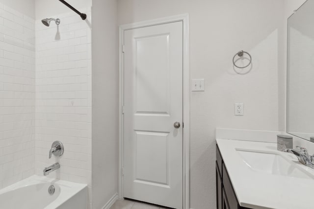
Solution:
<path fill-rule="evenodd" d="M 53 185 L 54 193 L 48 188 Z M 0 209 L 86 209 L 87 185 L 31 176 L 0 189 Z"/>

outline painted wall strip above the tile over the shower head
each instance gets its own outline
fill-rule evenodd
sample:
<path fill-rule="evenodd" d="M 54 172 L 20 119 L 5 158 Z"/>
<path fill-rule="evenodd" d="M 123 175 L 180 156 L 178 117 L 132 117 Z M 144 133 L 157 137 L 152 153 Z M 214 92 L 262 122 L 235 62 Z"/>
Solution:
<path fill-rule="evenodd" d="M 59 0 L 35 0 L 35 18 L 55 18 L 54 15 L 65 13 L 65 12 L 73 12 L 66 5 L 61 3 Z M 76 8 L 79 12 L 80 8 L 86 8 L 92 6 L 92 0 L 66 0 L 69 4 L 71 4 L 74 8 Z M 73 14 L 76 14 L 73 12 Z M 79 16 L 78 16 L 79 17 Z"/>

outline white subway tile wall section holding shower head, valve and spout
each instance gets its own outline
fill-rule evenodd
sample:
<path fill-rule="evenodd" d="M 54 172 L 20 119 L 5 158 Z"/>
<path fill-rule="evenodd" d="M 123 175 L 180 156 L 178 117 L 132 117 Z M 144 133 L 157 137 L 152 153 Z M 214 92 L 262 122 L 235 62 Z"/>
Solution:
<path fill-rule="evenodd" d="M 35 173 L 55 162 L 60 169 L 49 177 L 89 186 L 91 207 L 91 8 L 83 21 L 69 12 L 50 27 L 35 21 Z M 48 158 L 52 142 L 64 145 L 60 158 Z"/>

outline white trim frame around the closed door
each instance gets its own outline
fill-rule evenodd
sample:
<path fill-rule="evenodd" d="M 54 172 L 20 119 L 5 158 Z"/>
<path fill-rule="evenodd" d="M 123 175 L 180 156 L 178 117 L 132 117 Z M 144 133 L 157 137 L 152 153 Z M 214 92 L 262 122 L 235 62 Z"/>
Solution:
<path fill-rule="evenodd" d="M 119 182 L 118 197 L 123 198 L 123 85 L 124 85 L 124 31 L 135 28 L 183 21 L 183 209 L 189 209 L 189 145 L 190 145 L 190 73 L 189 73 L 189 16 L 188 14 L 159 18 L 119 26 Z"/>

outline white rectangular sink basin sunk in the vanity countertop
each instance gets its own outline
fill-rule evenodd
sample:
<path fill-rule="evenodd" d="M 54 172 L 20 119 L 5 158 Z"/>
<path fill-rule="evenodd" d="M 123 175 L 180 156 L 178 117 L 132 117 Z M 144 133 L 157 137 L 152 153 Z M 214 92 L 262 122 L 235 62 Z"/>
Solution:
<path fill-rule="evenodd" d="M 236 149 L 236 151 L 243 159 L 243 162 L 256 172 L 302 179 L 314 179 L 312 174 L 295 166 L 294 162 L 276 152 L 242 149 Z"/>

